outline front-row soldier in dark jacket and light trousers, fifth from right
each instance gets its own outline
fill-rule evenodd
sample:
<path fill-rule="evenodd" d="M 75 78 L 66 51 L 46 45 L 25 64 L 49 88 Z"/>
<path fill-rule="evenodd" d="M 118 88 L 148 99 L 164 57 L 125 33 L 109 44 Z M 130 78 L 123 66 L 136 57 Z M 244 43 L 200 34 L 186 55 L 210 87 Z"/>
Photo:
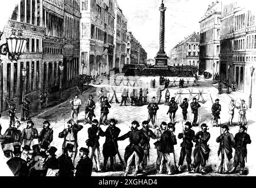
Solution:
<path fill-rule="evenodd" d="M 167 130 L 163 132 L 159 143 L 159 151 L 162 153 L 159 174 L 163 173 L 163 165 L 166 163 L 168 175 L 173 174 L 170 170 L 170 157 L 174 152 L 173 146 L 177 144 L 176 136 L 174 135 L 175 124 L 168 124 Z M 176 164 L 175 164 L 176 166 Z"/>

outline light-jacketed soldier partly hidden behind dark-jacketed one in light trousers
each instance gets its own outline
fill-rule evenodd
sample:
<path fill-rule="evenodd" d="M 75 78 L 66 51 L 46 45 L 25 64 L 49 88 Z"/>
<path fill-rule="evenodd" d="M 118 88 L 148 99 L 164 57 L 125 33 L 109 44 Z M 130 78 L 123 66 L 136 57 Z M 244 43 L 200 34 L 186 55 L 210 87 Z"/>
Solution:
<path fill-rule="evenodd" d="M 156 149 L 156 153 L 157 153 L 157 158 L 156 158 L 156 170 L 160 170 L 160 164 L 161 164 L 161 159 L 162 159 L 162 153 L 159 151 L 160 149 L 160 139 L 161 136 L 163 135 L 163 132 L 165 132 L 167 127 L 167 123 L 166 122 L 162 122 L 161 125 L 159 126 L 158 129 L 155 130 L 154 134 L 156 135 L 156 139 L 157 141 L 154 143 L 155 145 L 155 149 Z"/>

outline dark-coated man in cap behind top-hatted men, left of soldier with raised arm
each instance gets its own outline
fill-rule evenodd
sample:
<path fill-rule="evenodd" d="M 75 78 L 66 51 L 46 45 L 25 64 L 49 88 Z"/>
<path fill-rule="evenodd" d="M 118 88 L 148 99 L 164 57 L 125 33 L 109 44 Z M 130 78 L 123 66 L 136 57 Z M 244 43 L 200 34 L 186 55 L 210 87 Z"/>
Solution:
<path fill-rule="evenodd" d="M 50 128 L 50 122 L 48 120 L 45 120 L 42 124 L 43 127 L 40 135 L 38 136 L 38 143 L 40 146 L 42 145 L 42 143 L 44 143 L 44 141 L 50 144 L 53 139 L 53 130 Z"/>

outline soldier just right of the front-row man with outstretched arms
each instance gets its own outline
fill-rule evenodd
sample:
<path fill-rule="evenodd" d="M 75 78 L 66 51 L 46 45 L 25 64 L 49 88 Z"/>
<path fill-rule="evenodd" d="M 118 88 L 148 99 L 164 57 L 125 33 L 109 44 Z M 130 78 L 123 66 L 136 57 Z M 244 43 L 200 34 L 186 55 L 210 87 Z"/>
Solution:
<path fill-rule="evenodd" d="M 156 139 L 156 135 L 153 133 L 152 130 L 149 129 L 149 123 L 145 120 L 142 122 L 142 129 L 140 131 L 143 133 L 144 137 L 141 142 L 142 149 L 144 150 L 144 156 L 142 160 L 142 172 L 146 173 L 146 166 L 147 166 L 147 158 L 149 159 L 149 149 L 150 149 L 150 137 L 152 139 Z"/>

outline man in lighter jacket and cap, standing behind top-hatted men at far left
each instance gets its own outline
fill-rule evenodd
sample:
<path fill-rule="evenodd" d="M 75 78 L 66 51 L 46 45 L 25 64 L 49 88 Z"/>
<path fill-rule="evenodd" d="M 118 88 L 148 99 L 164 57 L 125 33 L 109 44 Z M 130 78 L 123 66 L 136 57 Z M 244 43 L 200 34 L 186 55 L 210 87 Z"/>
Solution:
<path fill-rule="evenodd" d="M 34 139 L 38 139 L 38 132 L 37 129 L 34 128 L 34 122 L 29 120 L 27 122 L 27 127 L 23 129 L 21 133 L 22 146 L 31 146 L 31 143 Z M 34 143 L 32 145 L 34 145 Z"/>

